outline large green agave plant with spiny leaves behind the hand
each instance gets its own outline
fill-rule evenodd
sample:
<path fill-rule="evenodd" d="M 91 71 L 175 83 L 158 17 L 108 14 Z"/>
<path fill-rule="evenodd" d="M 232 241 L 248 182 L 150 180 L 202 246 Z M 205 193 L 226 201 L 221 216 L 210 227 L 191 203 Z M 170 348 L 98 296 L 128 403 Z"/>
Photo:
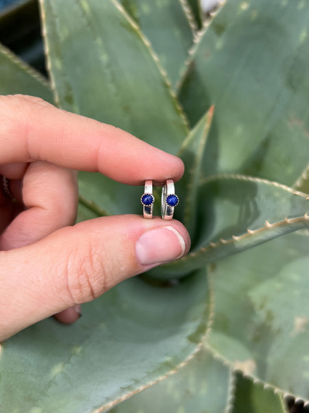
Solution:
<path fill-rule="evenodd" d="M 5 341 L 0 411 L 308 403 L 309 3 L 230 0 L 204 19 L 198 0 L 41 0 L 41 16 L 50 83 L 1 47 L 0 92 L 179 154 L 192 250 L 69 328 L 47 319 Z M 141 213 L 140 187 L 79 184 L 79 220 Z"/>

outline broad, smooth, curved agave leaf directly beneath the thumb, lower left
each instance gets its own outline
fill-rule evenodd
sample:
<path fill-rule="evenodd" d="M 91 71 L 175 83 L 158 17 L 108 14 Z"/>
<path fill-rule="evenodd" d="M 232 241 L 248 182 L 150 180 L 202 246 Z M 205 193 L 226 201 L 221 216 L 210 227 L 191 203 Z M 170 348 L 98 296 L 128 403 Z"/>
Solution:
<path fill-rule="evenodd" d="M 205 269 L 169 288 L 135 277 L 84 304 L 72 326 L 53 319 L 3 343 L 3 412 L 87 413 L 183 363 L 205 335 Z"/>

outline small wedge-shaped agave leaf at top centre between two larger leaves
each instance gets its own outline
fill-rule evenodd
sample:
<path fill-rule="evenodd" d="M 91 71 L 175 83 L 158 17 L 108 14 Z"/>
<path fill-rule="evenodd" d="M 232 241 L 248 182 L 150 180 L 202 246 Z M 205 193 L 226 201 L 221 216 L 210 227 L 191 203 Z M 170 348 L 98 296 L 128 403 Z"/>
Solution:
<path fill-rule="evenodd" d="M 121 0 L 122 5 L 150 40 L 175 85 L 192 45 L 190 20 L 180 0 Z"/>

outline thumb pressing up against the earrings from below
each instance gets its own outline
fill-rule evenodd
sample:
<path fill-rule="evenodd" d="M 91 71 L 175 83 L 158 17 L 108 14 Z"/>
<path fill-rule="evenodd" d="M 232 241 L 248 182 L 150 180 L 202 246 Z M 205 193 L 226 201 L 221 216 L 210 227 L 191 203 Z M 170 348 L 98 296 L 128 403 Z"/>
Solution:
<path fill-rule="evenodd" d="M 0 252 L 0 341 L 122 280 L 175 260 L 190 248 L 178 221 L 137 215 L 67 226 L 23 248 Z"/>

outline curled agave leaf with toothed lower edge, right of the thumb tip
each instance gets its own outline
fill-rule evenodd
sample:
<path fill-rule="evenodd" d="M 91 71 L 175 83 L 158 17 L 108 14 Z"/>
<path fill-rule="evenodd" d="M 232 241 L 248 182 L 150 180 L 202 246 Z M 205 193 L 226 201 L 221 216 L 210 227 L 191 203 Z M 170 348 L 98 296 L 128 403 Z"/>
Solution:
<path fill-rule="evenodd" d="M 277 182 L 240 175 L 207 178 L 199 188 L 199 234 L 192 252 L 165 264 L 180 277 L 227 255 L 309 226 L 308 195 Z M 151 271 L 159 275 L 157 268 Z"/>

